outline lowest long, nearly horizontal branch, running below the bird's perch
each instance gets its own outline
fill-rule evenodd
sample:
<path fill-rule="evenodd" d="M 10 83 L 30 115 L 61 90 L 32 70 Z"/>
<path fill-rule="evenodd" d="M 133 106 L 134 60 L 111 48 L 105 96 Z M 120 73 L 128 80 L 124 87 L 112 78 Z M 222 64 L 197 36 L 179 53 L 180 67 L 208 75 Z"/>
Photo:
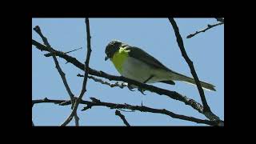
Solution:
<path fill-rule="evenodd" d="M 209 121 L 209 120 L 202 120 L 202 119 L 198 119 L 198 118 L 194 118 L 194 117 L 188 117 L 185 115 L 181 115 L 181 114 L 174 114 L 173 112 L 169 111 L 169 110 L 165 110 L 165 109 L 154 109 L 154 108 L 150 108 L 147 106 L 132 106 L 129 104 L 117 104 L 117 103 L 110 103 L 110 102 L 101 102 L 100 100 L 96 99 L 96 98 L 90 98 L 92 100 L 92 102 L 89 101 L 84 101 L 82 100 L 81 103 L 85 104 L 86 107 L 83 110 L 87 110 L 90 109 L 93 106 L 106 106 L 109 107 L 110 109 L 128 109 L 128 110 L 138 110 L 141 112 L 150 112 L 150 113 L 155 113 L 155 114 L 165 114 L 170 116 L 171 118 L 178 118 L 178 119 L 182 119 L 182 120 L 186 120 L 186 121 L 190 121 L 190 122 L 197 122 L 197 123 L 204 123 L 210 126 L 220 126 L 222 121 Z M 59 104 L 62 106 L 66 106 L 66 105 L 70 105 L 70 101 L 66 101 L 66 100 L 51 100 L 48 98 L 44 98 L 44 99 L 39 99 L 39 100 L 32 100 L 33 104 L 36 103 L 55 103 L 55 104 Z"/>

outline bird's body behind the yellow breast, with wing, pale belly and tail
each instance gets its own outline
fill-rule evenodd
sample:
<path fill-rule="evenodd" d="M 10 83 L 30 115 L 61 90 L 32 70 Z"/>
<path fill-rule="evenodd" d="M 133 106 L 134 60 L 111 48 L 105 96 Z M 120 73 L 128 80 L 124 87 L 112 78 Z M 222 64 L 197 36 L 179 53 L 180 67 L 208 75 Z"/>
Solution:
<path fill-rule="evenodd" d="M 168 69 L 156 58 L 138 47 L 130 46 L 126 50 L 130 50 L 130 62 L 126 62 L 127 66 L 124 66 L 126 67 L 126 73 L 122 74 L 126 78 L 131 78 L 138 82 L 145 82 L 148 78 L 152 77 L 146 83 L 163 82 L 174 85 L 174 81 L 183 81 L 195 84 L 194 78 Z M 201 85 L 208 90 L 215 90 L 214 86 L 210 83 L 201 82 Z"/>

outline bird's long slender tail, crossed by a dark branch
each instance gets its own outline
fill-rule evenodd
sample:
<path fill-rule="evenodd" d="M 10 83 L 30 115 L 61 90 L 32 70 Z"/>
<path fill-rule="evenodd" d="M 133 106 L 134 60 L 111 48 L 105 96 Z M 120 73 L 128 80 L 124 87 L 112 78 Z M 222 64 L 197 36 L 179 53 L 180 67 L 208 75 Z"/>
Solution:
<path fill-rule="evenodd" d="M 173 75 L 174 74 L 174 75 Z M 187 82 L 187 83 L 190 83 L 190 84 L 193 84 L 196 86 L 195 82 L 194 82 L 194 78 L 190 78 L 190 77 L 187 77 L 186 75 L 183 75 L 183 74 L 178 74 L 176 72 L 173 72 L 173 80 L 174 81 L 182 81 L 182 82 Z M 207 83 L 207 82 L 202 82 L 200 81 L 201 83 L 201 86 L 203 89 L 206 89 L 206 90 L 215 90 L 215 86 L 210 84 L 210 83 Z"/>

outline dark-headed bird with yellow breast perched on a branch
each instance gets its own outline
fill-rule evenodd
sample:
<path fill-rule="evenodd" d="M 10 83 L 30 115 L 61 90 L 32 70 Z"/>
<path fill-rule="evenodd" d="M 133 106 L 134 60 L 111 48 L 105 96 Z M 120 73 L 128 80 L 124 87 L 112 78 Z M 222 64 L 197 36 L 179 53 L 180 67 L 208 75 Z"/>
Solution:
<path fill-rule="evenodd" d="M 119 40 L 112 40 L 106 45 L 105 61 L 110 59 L 122 77 L 142 83 L 163 82 L 175 85 L 174 81 L 190 83 L 194 86 L 194 78 L 179 74 L 164 66 L 158 59 L 136 46 L 130 46 Z M 204 90 L 215 90 L 215 86 L 200 81 Z"/>

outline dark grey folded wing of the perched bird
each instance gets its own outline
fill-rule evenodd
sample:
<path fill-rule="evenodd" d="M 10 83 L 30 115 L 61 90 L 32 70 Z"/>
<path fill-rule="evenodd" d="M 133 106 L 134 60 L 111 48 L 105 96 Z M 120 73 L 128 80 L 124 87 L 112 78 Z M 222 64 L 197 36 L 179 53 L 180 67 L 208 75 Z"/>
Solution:
<path fill-rule="evenodd" d="M 129 46 L 126 48 L 126 50 L 130 50 L 129 56 L 132 58 L 136 58 L 142 62 L 149 64 L 150 66 L 154 66 L 157 69 L 171 71 L 166 66 L 164 66 L 161 62 L 159 62 L 156 58 L 154 58 L 150 54 L 147 54 L 146 51 L 139 49 L 138 47 Z"/>

